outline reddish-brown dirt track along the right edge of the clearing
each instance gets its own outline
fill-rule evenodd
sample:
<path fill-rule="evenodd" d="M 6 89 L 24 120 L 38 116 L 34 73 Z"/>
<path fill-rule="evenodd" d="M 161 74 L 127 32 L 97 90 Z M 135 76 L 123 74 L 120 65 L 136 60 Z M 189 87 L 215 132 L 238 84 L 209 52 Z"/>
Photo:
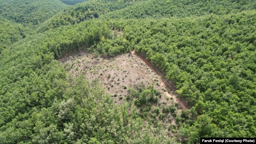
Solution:
<path fill-rule="evenodd" d="M 187 106 L 185 105 L 185 102 L 182 102 L 181 100 L 179 100 L 178 98 L 178 94 L 176 93 L 176 89 L 173 87 L 173 85 L 171 85 L 170 83 L 167 82 L 167 80 L 165 79 L 165 77 L 163 76 L 163 74 L 161 74 L 161 72 L 159 72 L 158 70 L 156 70 L 156 68 L 154 68 L 147 59 L 145 59 L 145 57 L 142 57 L 141 55 L 138 55 L 135 53 L 135 51 L 133 50 L 131 52 L 132 54 L 136 55 L 137 57 L 139 57 L 140 59 L 142 59 L 146 65 L 148 67 L 151 68 L 151 70 L 153 70 L 157 76 L 159 76 L 160 78 L 160 84 L 163 85 L 163 87 L 165 89 L 167 89 L 167 91 L 173 91 L 173 94 L 169 94 L 167 91 L 164 92 L 169 98 L 173 98 L 174 102 L 179 103 L 180 107 L 182 107 L 182 109 L 184 109 L 185 111 L 187 111 Z M 167 87 L 168 85 L 168 87 Z"/>

